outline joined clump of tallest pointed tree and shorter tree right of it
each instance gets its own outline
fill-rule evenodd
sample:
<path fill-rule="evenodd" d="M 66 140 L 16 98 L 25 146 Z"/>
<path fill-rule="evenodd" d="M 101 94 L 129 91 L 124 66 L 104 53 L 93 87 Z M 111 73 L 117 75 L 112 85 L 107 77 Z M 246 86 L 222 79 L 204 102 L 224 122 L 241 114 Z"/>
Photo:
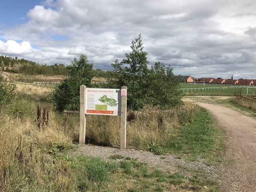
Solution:
<path fill-rule="evenodd" d="M 168 109 L 181 104 L 179 82 L 172 68 L 156 62 L 148 69 L 148 53 L 143 51 L 141 35 L 132 41 L 132 52 L 122 62 L 115 61 L 112 84 L 114 88 L 127 86 L 127 105 L 140 110 L 145 104 Z"/>

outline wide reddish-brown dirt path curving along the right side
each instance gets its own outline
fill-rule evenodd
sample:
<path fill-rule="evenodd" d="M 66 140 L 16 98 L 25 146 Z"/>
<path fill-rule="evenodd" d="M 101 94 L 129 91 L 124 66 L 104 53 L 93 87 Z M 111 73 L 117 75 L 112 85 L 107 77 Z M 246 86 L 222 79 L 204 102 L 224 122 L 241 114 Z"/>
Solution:
<path fill-rule="evenodd" d="M 230 163 L 220 175 L 226 192 L 256 192 L 256 120 L 224 106 L 200 103 L 226 130 L 224 158 Z"/>

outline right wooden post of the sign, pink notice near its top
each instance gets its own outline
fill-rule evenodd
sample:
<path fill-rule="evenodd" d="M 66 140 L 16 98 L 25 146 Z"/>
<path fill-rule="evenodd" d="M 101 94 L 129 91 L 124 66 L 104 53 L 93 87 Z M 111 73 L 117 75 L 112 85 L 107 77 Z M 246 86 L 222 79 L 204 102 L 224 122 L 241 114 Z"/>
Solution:
<path fill-rule="evenodd" d="M 121 89 L 121 137 L 120 148 L 126 148 L 126 105 L 127 105 L 127 88 L 122 86 Z"/>

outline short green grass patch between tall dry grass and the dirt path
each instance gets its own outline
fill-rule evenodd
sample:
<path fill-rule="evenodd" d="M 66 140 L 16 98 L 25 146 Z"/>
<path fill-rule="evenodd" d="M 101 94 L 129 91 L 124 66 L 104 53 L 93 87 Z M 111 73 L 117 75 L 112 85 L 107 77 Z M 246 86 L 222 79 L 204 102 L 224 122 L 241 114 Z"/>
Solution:
<path fill-rule="evenodd" d="M 222 130 L 214 124 L 213 117 L 200 108 L 198 116 L 182 127 L 167 142 L 170 152 L 186 156 L 188 160 L 203 158 L 211 165 L 221 160 Z"/>

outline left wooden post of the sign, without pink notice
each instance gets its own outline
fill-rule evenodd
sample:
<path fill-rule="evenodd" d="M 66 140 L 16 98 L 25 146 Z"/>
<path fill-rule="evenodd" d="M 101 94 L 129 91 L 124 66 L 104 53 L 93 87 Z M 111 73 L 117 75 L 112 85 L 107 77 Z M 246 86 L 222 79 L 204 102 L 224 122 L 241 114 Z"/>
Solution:
<path fill-rule="evenodd" d="M 79 144 L 85 144 L 85 130 L 86 130 L 86 118 L 85 118 L 85 88 L 86 86 L 80 86 L 80 131 L 79 131 Z"/>

